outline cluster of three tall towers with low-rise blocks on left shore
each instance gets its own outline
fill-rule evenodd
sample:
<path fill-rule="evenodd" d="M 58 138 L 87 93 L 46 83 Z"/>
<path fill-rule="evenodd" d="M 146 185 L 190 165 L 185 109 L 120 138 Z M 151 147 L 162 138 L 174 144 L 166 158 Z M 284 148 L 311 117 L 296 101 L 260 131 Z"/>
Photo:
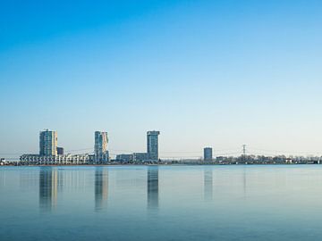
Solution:
<path fill-rule="evenodd" d="M 147 151 L 145 153 L 113 154 L 116 162 L 158 162 L 158 136 L 160 131 L 147 131 Z M 108 150 L 108 134 L 106 131 L 94 132 L 94 148 L 78 149 L 78 153 L 64 154 L 64 147 L 58 147 L 56 130 L 41 130 L 39 132 L 38 154 L 21 154 L 19 160 L 22 164 L 106 164 L 112 158 Z M 80 153 L 87 151 L 86 153 Z M 89 151 L 90 150 L 90 151 Z M 13 158 L 10 158 L 13 161 Z M 1 160 L 4 164 L 3 159 Z"/>

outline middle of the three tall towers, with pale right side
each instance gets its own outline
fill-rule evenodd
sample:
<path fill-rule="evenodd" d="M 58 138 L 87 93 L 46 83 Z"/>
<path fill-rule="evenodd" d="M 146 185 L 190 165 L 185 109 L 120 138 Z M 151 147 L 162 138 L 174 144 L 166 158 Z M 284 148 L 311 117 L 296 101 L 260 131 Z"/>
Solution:
<path fill-rule="evenodd" d="M 94 154 L 95 162 L 108 162 L 109 155 L 107 151 L 108 137 L 107 132 L 95 131 Z"/>

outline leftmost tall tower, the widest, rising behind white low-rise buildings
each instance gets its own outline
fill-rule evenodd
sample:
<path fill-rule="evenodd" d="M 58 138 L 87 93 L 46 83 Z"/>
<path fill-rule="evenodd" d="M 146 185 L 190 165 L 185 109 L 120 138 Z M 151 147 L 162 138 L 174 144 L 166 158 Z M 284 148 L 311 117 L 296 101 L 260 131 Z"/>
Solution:
<path fill-rule="evenodd" d="M 56 155 L 57 154 L 57 132 L 53 130 L 43 130 L 39 134 L 39 154 Z"/>

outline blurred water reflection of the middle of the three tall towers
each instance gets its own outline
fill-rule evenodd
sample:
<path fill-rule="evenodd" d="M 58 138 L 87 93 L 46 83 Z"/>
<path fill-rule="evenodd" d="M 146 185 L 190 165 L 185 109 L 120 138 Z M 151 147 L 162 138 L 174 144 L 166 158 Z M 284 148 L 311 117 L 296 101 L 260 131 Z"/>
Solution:
<path fill-rule="evenodd" d="M 108 194 L 108 170 L 97 167 L 95 170 L 95 210 L 103 210 Z"/>

